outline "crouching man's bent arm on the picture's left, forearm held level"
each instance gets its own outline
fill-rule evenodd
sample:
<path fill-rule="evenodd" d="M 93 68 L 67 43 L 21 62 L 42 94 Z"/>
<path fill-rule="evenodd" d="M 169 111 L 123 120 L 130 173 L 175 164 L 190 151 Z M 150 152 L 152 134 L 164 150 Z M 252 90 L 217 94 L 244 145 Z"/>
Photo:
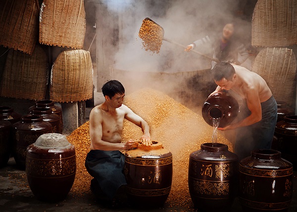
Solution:
<path fill-rule="evenodd" d="M 102 140 L 102 115 L 99 108 L 92 109 L 90 113 L 90 138 L 91 149 L 93 150 L 129 150 L 137 147 L 134 141 L 127 141 L 126 143 L 111 143 Z"/>

